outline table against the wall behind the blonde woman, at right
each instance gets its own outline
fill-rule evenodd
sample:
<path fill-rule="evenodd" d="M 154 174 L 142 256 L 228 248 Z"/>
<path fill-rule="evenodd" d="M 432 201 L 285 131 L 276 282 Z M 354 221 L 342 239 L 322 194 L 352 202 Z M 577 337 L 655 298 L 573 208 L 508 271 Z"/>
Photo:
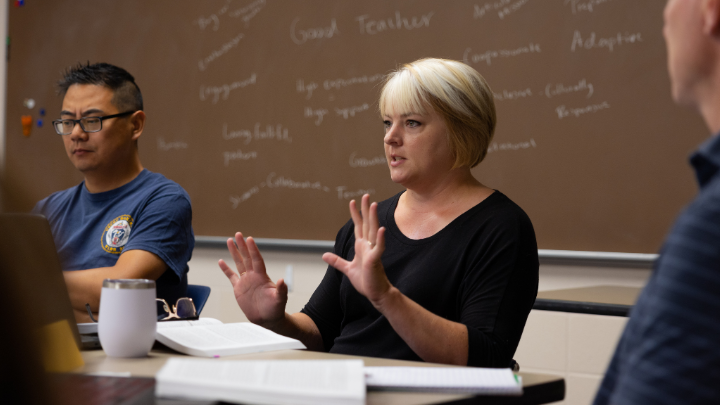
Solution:
<path fill-rule="evenodd" d="M 628 316 L 641 288 L 596 286 L 538 292 L 533 309 L 580 314 Z"/>

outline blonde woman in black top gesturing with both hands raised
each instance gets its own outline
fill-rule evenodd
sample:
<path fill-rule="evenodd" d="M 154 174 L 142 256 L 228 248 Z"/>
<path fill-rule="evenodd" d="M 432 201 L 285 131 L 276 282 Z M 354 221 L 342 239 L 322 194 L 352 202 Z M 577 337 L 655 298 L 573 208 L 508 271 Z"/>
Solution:
<path fill-rule="evenodd" d="M 456 61 L 422 59 L 391 73 L 380 96 L 391 179 L 406 188 L 350 203 L 324 279 L 287 314 L 251 237 L 222 260 L 247 318 L 312 350 L 482 367 L 510 365 L 535 301 L 538 256 L 527 215 L 470 169 L 495 128 L 492 92 Z"/>

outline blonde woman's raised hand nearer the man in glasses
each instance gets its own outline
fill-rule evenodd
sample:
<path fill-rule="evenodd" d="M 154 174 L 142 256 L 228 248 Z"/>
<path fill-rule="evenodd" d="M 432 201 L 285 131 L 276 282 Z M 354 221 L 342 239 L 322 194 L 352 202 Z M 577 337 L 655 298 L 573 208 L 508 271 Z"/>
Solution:
<path fill-rule="evenodd" d="M 273 283 L 265 270 L 265 261 L 252 237 L 243 239 L 242 233 L 227 240 L 228 250 L 235 261 L 237 273 L 224 260 L 218 264 L 233 286 L 235 300 L 252 323 L 271 328 L 285 318 L 287 285 L 283 279 Z"/>

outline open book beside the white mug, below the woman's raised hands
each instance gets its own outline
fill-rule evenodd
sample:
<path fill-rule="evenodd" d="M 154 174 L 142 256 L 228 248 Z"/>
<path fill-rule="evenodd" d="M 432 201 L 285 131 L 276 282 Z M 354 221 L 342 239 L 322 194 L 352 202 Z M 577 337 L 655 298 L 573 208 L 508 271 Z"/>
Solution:
<path fill-rule="evenodd" d="M 305 349 L 299 340 L 250 322 L 224 324 L 212 318 L 158 322 L 155 339 L 181 353 L 201 357 Z"/>

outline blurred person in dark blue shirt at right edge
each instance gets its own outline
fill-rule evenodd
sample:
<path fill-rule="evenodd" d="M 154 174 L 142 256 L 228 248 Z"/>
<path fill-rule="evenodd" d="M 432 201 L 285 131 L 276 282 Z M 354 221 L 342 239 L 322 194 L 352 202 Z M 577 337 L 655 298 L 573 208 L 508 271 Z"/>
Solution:
<path fill-rule="evenodd" d="M 714 135 L 690 157 L 700 192 L 665 240 L 596 405 L 720 403 L 720 0 L 669 0 L 663 33 L 673 99 Z"/>

